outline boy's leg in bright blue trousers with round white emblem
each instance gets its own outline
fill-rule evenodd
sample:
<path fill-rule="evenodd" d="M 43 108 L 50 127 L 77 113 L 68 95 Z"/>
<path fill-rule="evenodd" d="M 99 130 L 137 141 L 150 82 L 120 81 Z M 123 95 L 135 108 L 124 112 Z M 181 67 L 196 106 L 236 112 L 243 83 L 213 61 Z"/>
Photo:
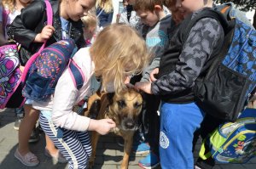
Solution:
<path fill-rule="evenodd" d="M 193 169 L 193 135 L 204 113 L 195 103 L 166 104 L 160 109 L 160 164 L 163 169 Z"/>

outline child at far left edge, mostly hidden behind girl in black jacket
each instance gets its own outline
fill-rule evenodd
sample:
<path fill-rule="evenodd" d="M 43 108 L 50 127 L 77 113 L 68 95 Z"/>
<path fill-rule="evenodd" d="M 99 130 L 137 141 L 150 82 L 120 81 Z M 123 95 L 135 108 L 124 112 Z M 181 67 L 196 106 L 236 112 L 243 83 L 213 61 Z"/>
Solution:
<path fill-rule="evenodd" d="M 0 45 L 8 42 L 8 36 L 6 33 L 6 25 L 9 25 L 15 20 L 15 17 L 20 14 L 21 8 L 25 8 L 32 0 L 3 0 L 0 7 L 0 15 L 3 16 L 2 25 L 0 25 Z M 5 13 L 5 14 L 3 14 Z M 24 116 L 23 107 L 15 109 L 17 120 L 15 121 L 15 130 L 19 130 L 20 122 Z M 32 132 L 37 133 L 37 132 Z M 38 141 L 39 136 L 33 134 L 29 140 L 30 143 Z"/>

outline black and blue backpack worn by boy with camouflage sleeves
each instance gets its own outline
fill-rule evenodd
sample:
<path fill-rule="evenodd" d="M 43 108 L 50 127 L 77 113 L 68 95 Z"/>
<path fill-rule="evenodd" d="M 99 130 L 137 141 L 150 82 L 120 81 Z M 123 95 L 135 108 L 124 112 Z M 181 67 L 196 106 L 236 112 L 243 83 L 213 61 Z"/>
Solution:
<path fill-rule="evenodd" d="M 183 39 L 198 20 L 206 17 L 221 23 L 224 43 L 212 54 L 207 73 L 195 81 L 195 103 L 212 116 L 236 121 L 256 86 L 256 31 L 237 18 L 228 21 L 224 14 L 206 8 L 189 22 Z"/>

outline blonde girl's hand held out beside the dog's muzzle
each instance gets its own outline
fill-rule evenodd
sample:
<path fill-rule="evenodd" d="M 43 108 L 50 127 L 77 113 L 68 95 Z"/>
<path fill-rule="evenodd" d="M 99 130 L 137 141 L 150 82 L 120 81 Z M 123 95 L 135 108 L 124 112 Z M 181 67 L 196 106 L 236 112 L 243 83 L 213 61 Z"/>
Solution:
<path fill-rule="evenodd" d="M 88 127 L 89 131 L 99 132 L 101 135 L 108 134 L 111 129 L 116 127 L 115 122 L 112 119 L 101 119 L 101 120 L 93 120 L 90 119 L 90 124 Z"/>

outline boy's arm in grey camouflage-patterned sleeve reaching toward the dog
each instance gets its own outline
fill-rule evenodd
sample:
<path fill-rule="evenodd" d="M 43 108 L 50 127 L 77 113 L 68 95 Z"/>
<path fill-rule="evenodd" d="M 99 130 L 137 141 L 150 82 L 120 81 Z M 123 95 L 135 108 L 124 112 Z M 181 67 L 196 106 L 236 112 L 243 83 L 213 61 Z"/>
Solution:
<path fill-rule="evenodd" d="M 192 27 L 188 39 L 183 44 L 175 70 L 153 82 L 152 93 L 165 95 L 193 87 L 213 48 L 219 45 L 219 40 L 223 36 L 224 31 L 217 20 L 209 18 L 199 20 Z"/>

